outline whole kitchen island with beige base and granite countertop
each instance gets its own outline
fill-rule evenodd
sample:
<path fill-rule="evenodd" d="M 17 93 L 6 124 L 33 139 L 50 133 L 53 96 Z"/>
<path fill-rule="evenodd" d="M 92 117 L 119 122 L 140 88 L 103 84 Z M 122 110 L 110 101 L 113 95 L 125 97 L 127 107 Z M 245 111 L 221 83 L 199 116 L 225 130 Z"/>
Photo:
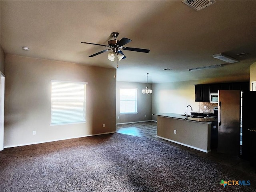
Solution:
<path fill-rule="evenodd" d="M 160 113 L 157 116 L 157 137 L 178 143 L 202 152 L 210 152 L 211 124 L 213 117 L 188 116 Z"/>

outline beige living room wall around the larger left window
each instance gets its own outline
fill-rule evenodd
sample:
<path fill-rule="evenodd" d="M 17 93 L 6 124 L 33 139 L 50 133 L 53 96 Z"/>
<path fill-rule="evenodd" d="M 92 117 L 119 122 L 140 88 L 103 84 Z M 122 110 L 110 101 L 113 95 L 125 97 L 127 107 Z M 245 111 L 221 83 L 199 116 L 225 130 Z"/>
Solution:
<path fill-rule="evenodd" d="M 7 54 L 4 146 L 114 132 L 114 70 Z M 86 123 L 50 126 L 51 80 L 88 82 Z"/>

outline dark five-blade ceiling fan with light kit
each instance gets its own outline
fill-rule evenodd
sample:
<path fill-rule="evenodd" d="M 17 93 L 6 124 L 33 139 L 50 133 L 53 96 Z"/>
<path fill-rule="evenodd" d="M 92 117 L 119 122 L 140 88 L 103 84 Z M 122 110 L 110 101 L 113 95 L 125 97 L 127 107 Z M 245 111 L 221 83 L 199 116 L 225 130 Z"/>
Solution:
<path fill-rule="evenodd" d="M 118 36 L 118 32 L 112 32 L 111 33 L 114 40 L 110 40 L 108 41 L 108 45 L 102 45 L 102 44 L 96 44 L 96 43 L 88 43 L 88 42 L 81 42 L 81 43 L 85 43 L 85 44 L 92 44 L 92 45 L 100 45 L 100 46 L 104 46 L 104 47 L 109 47 L 110 49 L 105 49 L 103 51 L 100 51 L 98 53 L 92 54 L 89 57 L 94 57 L 98 54 L 104 53 L 106 51 L 110 51 L 112 50 L 112 52 L 110 52 L 108 54 L 108 59 L 111 61 L 114 61 L 115 58 L 115 54 L 117 55 L 118 59 L 125 59 L 126 56 L 124 55 L 124 53 L 120 50 L 128 50 L 128 51 L 136 51 L 136 52 L 143 52 L 143 53 L 148 53 L 150 50 L 149 49 L 140 49 L 140 48 L 133 48 L 133 47 L 124 47 L 125 44 L 131 42 L 132 40 L 128 39 L 128 38 L 122 38 L 121 40 L 116 40 L 117 36 Z"/>

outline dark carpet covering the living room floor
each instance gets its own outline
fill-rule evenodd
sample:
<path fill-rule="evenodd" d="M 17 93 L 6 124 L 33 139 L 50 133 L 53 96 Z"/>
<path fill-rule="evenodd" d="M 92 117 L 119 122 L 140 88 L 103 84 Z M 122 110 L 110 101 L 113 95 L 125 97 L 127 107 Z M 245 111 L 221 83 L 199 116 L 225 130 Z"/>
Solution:
<path fill-rule="evenodd" d="M 118 133 L 1 152 L 1 192 L 255 192 L 255 184 L 255 174 Z"/>

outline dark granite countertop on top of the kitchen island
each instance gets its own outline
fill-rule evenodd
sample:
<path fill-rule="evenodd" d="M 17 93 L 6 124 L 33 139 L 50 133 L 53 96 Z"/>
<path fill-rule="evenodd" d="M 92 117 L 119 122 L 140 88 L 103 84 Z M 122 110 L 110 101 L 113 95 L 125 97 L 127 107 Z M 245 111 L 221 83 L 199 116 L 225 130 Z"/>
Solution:
<path fill-rule="evenodd" d="M 167 118 L 175 118 L 175 119 L 180 119 L 180 120 L 185 120 L 185 121 L 196 121 L 196 122 L 206 123 L 206 124 L 210 124 L 210 123 L 212 123 L 212 121 L 217 121 L 217 118 L 214 118 L 214 117 L 194 118 L 194 117 L 188 116 L 188 119 L 186 119 L 184 114 L 176 114 L 176 113 L 157 113 L 157 114 L 153 114 L 153 115 L 167 117 Z"/>

